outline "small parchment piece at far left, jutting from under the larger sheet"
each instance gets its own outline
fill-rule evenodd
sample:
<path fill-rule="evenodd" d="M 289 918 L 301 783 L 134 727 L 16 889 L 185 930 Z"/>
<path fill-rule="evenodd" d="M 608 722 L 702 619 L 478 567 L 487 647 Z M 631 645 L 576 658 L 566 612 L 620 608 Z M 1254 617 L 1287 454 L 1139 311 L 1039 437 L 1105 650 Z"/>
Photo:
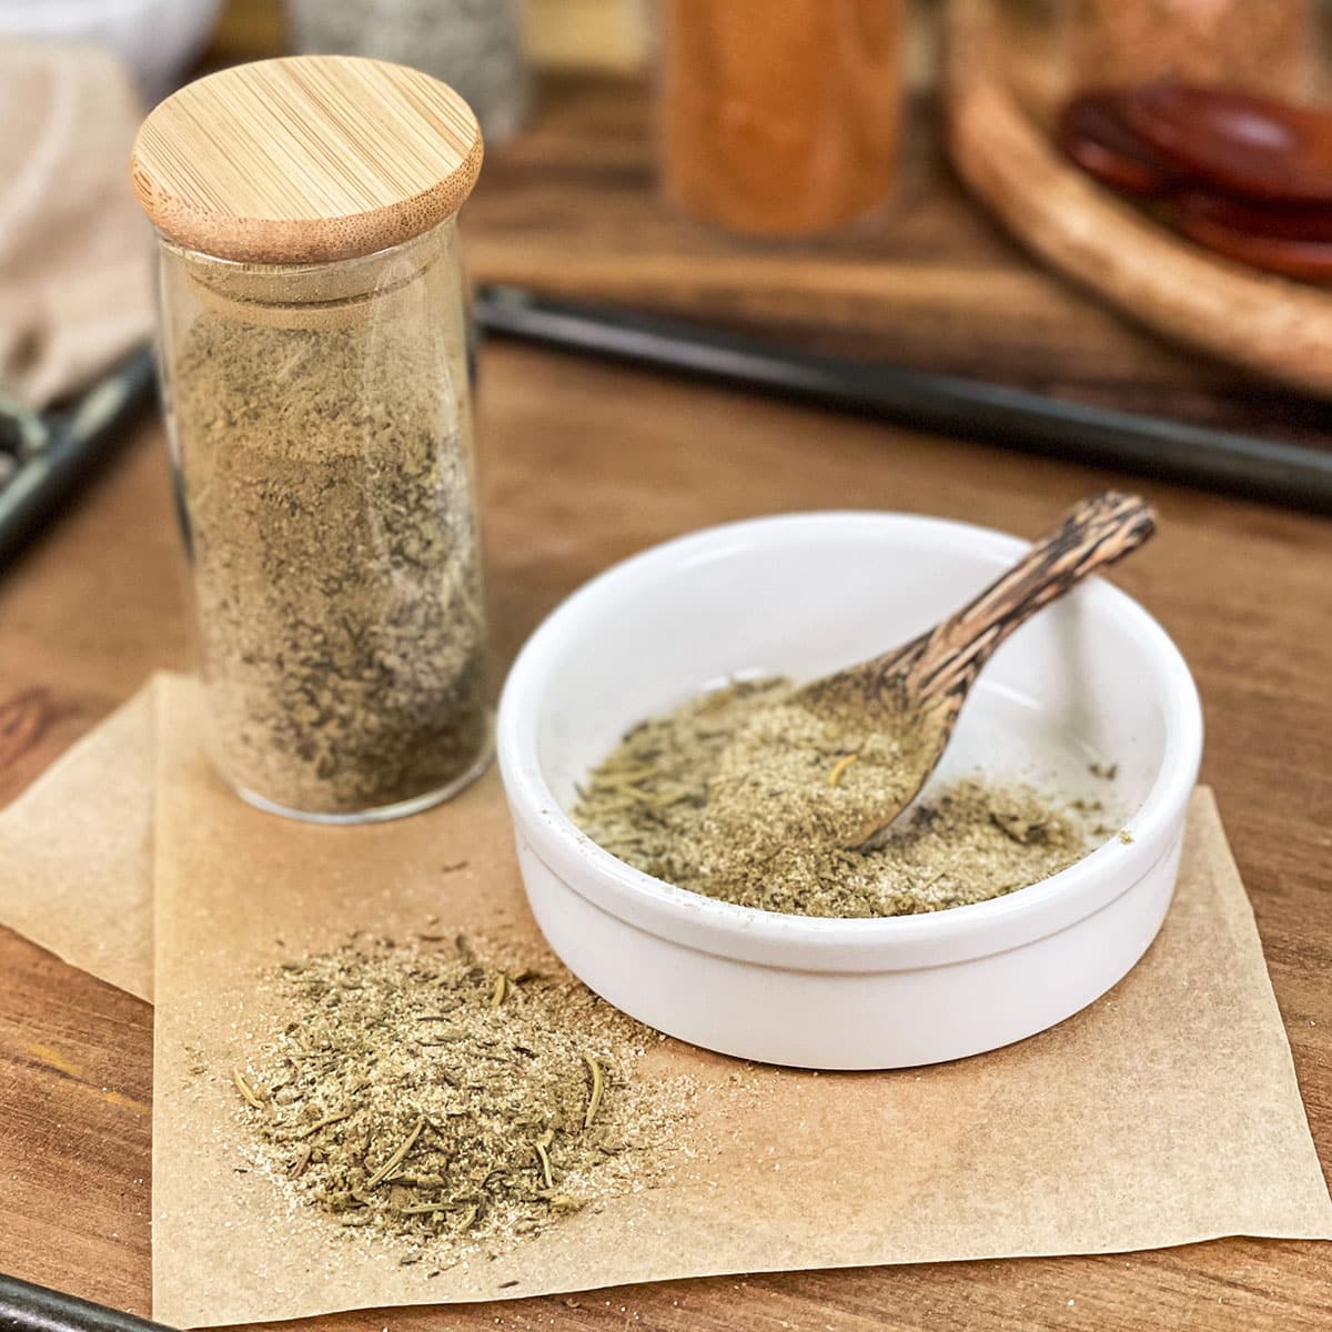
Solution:
<path fill-rule="evenodd" d="M 155 689 L 0 811 L 0 924 L 140 999 L 153 992 Z"/>

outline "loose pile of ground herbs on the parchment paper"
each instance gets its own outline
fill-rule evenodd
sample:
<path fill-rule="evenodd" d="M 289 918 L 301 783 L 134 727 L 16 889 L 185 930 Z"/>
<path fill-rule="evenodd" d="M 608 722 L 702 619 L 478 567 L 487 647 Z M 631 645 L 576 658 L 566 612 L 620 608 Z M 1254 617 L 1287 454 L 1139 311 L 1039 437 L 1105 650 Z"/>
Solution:
<path fill-rule="evenodd" d="M 669 1177 L 687 1079 L 550 956 L 357 938 L 289 963 L 286 1028 L 233 1083 L 293 1205 L 446 1267 Z"/>

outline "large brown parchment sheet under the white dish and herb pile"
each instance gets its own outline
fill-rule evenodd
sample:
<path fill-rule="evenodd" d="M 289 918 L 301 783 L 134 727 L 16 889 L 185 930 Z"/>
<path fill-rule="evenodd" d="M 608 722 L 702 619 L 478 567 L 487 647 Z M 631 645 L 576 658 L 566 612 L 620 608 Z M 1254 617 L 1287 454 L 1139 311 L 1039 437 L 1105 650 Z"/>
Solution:
<path fill-rule="evenodd" d="M 400 823 L 245 807 L 159 690 L 153 1315 L 202 1327 L 725 1272 L 1332 1237 L 1332 1203 L 1257 932 L 1209 793 L 1143 962 L 1052 1031 L 888 1074 L 755 1067 L 675 1042 L 697 1155 L 661 1188 L 430 1277 L 237 1173 L 230 1070 L 282 1023 L 256 984 L 357 928 L 538 935 L 498 779 Z M 466 868 L 441 874 L 445 864 Z M 202 1070 L 202 1071 L 200 1071 Z M 515 1284 L 510 1284 L 515 1283 Z"/>

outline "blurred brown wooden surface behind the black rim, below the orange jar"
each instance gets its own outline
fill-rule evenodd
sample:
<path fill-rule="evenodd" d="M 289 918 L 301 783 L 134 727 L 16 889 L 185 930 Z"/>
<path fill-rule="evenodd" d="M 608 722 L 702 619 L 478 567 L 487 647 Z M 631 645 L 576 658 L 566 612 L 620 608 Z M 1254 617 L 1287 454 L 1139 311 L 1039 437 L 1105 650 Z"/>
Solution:
<path fill-rule="evenodd" d="M 952 174 L 930 97 L 898 196 L 854 234 L 729 236 L 661 198 L 634 80 L 562 77 L 486 161 L 464 214 L 470 276 L 673 313 L 898 365 L 1319 441 L 1332 408 L 1171 346 L 1039 268 Z"/>

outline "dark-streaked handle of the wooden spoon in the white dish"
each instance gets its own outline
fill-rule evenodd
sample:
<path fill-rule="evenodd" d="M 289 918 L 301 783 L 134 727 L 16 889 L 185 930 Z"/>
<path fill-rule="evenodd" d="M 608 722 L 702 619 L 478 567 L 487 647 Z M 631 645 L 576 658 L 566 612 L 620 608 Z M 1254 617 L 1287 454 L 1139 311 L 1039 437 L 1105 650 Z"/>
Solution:
<path fill-rule="evenodd" d="M 891 681 L 908 702 L 935 715 L 942 710 L 951 723 L 980 669 L 1019 625 L 1088 574 L 1123 559 L 1155 530 L 1155 515 L 1138 496 L 1107 490 L 1084 500 L 955 615 L 878 658 L 872 669 L 880 687 Z"/>

